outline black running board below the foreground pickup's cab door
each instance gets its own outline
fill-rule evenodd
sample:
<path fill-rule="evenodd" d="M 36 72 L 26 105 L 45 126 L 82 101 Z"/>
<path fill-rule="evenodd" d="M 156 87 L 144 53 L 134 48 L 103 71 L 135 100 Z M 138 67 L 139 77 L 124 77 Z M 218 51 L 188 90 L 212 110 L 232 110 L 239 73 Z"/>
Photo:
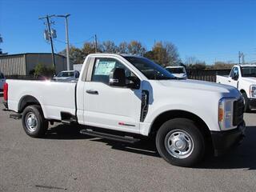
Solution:
<path fill-rule="evenodd" d="M 98 132 L 98 131 L 90 130 L 90 129 L 80 130 L 80 134 L 86 134 L 86 135 L 97 137 L 97 138 L 107 138 L 107 139 L 118 141 L 118 142 L 134 143 L 134 142 L 140 141 L 139 138 L 120 136 L 120 135 L 116 135 L 116 134 L 106 134 L 106 133 L 102 133 L 102 132 Z"/>

